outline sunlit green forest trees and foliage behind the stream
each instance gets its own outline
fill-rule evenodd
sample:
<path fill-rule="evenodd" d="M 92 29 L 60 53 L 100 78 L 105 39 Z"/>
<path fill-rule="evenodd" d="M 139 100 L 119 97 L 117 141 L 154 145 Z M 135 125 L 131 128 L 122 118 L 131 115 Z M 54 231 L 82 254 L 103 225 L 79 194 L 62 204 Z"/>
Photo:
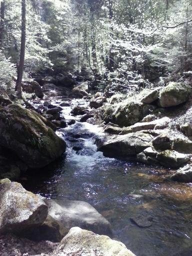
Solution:
<path fill-rule="evenodd" d="M 23 77 L 70 71 L 134 90 L 190 77 L 191 0 L 26 0 Z M 188 22 L 186 22 L 188 21 Z M 0 3 L 0 86 L 19 67 L 21 0 Z"/>

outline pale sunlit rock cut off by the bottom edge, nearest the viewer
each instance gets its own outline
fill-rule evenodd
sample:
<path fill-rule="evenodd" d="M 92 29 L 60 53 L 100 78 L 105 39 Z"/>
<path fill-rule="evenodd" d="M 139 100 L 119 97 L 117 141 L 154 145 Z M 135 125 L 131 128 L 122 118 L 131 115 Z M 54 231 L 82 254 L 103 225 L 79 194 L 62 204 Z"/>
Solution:
<path fill-rule="evenodd" d="M 79 227 L 72 227 L 51 256 L 62 255 L 135 256 L 119 241 Z"/>

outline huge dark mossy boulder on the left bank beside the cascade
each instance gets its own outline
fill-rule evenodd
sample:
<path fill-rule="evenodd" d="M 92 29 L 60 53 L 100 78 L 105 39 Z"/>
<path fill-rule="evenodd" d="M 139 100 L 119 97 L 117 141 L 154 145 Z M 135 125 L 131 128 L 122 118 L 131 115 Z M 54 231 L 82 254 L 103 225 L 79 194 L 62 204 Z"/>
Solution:
<path fill-rule="evenodd" d="M 10 149 L 30 168 L 40 168 L 59 157 L 64 140 L 52 124 L 33 110 L 18 104 L 0 107 L 0 145 Z"/>

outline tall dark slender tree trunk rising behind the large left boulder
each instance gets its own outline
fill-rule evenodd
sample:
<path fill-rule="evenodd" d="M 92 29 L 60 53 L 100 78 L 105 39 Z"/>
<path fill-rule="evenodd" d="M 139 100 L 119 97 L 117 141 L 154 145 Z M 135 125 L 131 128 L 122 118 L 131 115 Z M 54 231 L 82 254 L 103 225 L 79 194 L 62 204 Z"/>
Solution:
<path fill-rule="evenodd" d="M 26 41 L 26 3 L 25 0 L 21 2 L 21 42 L 20 42 L 20 59 L 17 71 L 17 80 L 15 90 L 19 98 L 22 97 L 21 83 L 24 68 L 24 54 L 25 54 L 25 41 Z"/>

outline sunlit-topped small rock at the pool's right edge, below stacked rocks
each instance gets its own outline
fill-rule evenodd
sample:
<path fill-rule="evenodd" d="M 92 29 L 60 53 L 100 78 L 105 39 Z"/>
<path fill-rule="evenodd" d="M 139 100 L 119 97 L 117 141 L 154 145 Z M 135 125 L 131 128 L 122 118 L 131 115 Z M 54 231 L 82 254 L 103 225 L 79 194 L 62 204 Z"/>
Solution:
<path fill-rule="evenodd" d="M 165 150 L 157 153 L 156 159 L 165 167 L 178 168 L 189 160 L 188 155 L 174 150 Z"/>

